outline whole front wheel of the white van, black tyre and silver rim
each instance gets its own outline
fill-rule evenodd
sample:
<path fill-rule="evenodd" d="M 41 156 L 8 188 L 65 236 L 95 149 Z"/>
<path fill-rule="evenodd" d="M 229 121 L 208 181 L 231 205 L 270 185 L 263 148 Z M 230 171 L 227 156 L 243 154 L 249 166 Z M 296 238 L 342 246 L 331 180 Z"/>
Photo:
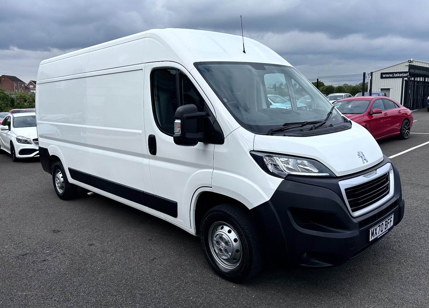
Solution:
<path fill-rule="evenodd" d="M 241 282 L 263 268 L 256 226 L 249 214 L 234 204 L 221 204 L 205 213 L 200 239 L 205 259 L 222 278 Z"/>

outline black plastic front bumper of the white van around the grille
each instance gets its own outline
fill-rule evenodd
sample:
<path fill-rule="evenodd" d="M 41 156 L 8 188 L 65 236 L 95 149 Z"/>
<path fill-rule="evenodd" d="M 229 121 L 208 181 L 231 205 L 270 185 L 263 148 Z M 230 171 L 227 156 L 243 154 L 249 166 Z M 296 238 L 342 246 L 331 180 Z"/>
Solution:
<path fill-rule="evenodd" d="M 390 160 L 385 157 L 370 169 L 344 177 L 287 177 L 269 201 L 252 209 L 268 239 L 267 251 L 275 248 L 272 259 L 309 267 L 339 265 L 384 237 L 369 242 L 369 229 L 392 213 L 394 225 L 404 216 L 405 202 L 396 168 L 393 167 L 393 197 L 359 217 L 351 216 L 338 182 L 366 174 L 387 162 Z"/>

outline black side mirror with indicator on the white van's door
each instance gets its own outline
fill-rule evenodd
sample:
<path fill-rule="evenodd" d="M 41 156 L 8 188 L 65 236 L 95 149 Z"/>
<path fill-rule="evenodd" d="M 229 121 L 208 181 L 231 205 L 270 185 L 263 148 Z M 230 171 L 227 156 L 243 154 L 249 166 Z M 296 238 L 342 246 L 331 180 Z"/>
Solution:
<path fill-rule="evenodd" d="M 180 146 L 195 146 L 204 141 L 202 121 L 208 114 L 198 112 L 194 104 L 177 108 L 174 115 L 174 143 Z"/>

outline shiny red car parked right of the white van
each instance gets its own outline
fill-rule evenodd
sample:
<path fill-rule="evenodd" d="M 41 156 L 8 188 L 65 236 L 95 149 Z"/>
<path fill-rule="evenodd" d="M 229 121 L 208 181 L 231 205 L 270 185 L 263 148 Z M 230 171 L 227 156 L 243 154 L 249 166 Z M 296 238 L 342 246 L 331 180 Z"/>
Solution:
<path fill-rule="evenodd" d="M 391 98 L 360 96 L 335 101 L 334 105 L 344 116 L 365 127 L 376 140 L 410 136 L 413 114 Z"/>

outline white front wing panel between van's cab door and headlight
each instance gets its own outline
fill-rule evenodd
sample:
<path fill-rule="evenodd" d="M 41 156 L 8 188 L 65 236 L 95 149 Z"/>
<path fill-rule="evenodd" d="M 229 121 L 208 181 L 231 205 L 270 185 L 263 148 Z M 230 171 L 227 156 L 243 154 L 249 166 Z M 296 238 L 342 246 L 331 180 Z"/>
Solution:
<path fill-rule="evenodd" d="M 237 128 L 215 145 L 213 192 L 230 196 L 249 209 L 268 201 L 283 179 L 267 174 L 250 156 L 254 134 Z"/>

